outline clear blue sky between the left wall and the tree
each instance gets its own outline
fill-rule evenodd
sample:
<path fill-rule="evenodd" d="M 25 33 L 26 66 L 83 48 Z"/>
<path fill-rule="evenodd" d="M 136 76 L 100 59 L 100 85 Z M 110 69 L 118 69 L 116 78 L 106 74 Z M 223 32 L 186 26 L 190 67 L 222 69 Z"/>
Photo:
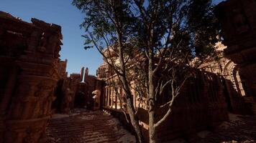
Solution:
<path fill-rule="evenodd" d="M 219 1 L 222 0 L 214 0 L 214 3 Z M 86 66 L 89 74 L 96 74 L 103 59 L 96 49 L 83 49 L 83 30 L 79 27 L 83 14 L 71 2 L 72 0 L 0 0 L 0 11 L 24 21 L 30 22 L 35 17 L 62 26 L 63 46 L 60 59 L 68 59 L 68 73 L 78 73 L 82 66 Z"/>

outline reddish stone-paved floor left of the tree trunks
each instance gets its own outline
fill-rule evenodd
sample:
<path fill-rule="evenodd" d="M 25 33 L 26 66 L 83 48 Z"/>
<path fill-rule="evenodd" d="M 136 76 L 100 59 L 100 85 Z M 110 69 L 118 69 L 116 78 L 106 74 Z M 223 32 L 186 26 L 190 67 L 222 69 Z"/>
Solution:
<path fill-rule="evenodd" d="M 135 142 L 135 137 L 111 115 L 81 109 L 72 114 L 53 115 L 47 135 L 54 143 Z"/>

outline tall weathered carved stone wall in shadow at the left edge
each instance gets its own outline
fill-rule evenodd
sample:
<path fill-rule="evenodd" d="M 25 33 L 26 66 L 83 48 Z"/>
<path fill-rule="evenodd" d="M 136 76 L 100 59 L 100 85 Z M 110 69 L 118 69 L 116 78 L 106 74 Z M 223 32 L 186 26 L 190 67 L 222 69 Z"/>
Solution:
<path fill-rule="evenodd" d="M 61 27 L 0 11 L 0 142 L 43 141 L 60 78 Z"/>

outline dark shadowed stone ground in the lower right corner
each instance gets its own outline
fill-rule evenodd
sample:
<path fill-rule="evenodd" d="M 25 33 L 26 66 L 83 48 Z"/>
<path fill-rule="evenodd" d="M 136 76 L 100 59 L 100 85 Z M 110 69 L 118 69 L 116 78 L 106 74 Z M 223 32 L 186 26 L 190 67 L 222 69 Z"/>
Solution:
<path fill-rule="evenodd" d="M 198 143 L 256 142 L 256 117 L 229 114 L 229 122 L 223 122 L 212 132 L 198 132 L 198 137 Z"/>

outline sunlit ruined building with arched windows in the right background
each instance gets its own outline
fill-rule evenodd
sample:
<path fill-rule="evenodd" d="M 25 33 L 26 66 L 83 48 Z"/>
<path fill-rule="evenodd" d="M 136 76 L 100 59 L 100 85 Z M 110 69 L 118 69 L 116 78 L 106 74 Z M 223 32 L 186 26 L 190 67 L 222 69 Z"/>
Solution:
<path fill-rule="evenodd" d="M 224 49 L 227 46 L 218 42 L 216 44 L 217 57 L 211 57 L 201 64 L 199 69 L 209 71 L 218 75 L 221 81 L 227 109 L 234 114 L 251 114 L 248 111 L 248 104 L 244 101 L 247 92 L 244 89 L 244 82 L 239 76 L 239 66 L 224 56 Z"/>

